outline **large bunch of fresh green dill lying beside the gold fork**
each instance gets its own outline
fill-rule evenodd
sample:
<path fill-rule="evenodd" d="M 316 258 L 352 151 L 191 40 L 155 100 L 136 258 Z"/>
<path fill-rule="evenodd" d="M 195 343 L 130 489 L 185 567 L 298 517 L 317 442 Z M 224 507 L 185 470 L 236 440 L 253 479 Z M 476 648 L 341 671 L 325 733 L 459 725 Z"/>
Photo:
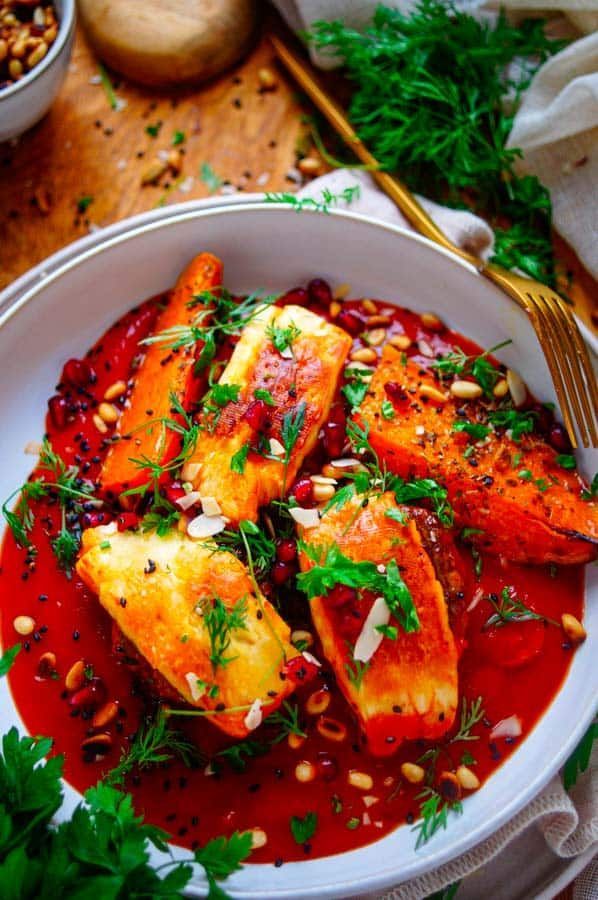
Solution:
<path fill-rule="evenodd" d="M 379 6 L 363 33 L 316 22 L 311 40 L 344 59 L 349 117 L 382 168 L 483 214 L 496 234 L 494 260 L 554 285 L 548 191 L 515 173 L 521 151 L 506 147 L 522 92 L 563 46 L 543 24 L 514 26 L 502 13 L 490 24 L 420 0 L 408 15 Z"/>

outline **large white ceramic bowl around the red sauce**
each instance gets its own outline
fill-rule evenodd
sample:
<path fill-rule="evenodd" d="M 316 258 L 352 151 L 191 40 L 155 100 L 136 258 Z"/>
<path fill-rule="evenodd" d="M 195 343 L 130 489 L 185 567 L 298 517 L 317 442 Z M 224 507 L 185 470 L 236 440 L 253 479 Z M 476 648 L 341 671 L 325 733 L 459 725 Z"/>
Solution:
<path fill-rule="evenodd" d="M 268 204 L 216 209 L 180 207 L 167 218 L 137 217 L 95 246 L 69 250 L 63 264 L 48 260 L 50 274 L 28 285 L 18 300 L 0 301 L 0 496 L 29 473 L 22 450 L 39 439 L 48 394 L 62 363 L 81 355 L 121 313 L 173 284 L 199 250 L 224 259 L 233 290 L 284 290 L 319 275 L 349 283 L 355 296 L 433 309 L 482 346 L 506 338 L 501 359 L 519 369 L 541 400 L 554 401 L 542 353 L 524 314 L 464 263 L 423 238 L 346 212 L 297 214 Z M 60 255 L 59 255 L 60 258 Z M 38 270 L 38 274 L 41 268 Z M 3 308 L 4 307 L 4 308 Z M 596 454 L 580 454 L 591 476 Z M 529 737 L 478 793 L 464 815 L 451 821 L 419 851 L 409 828 L 359 850 L 288 863 L 282 868 L 247 865 L 226 888 L 238 898 L 347 897 L 380 890 L 429 871 L 488 837 L 546 784 L 587 728 L 598 695 L 598 570 L 587 575 L 588 639 L 576 652 L 569 675 Z M 592 596 L 593 595 L 593 596 Z M 592 599 L 594 603 L 592 603 Z M 0 721 L 22 727 L 6 679 L 0 680 Z M 65 809 L 77 794 L 66 790 Z M 202 896 L 198 881 L 191 893 Z"/>

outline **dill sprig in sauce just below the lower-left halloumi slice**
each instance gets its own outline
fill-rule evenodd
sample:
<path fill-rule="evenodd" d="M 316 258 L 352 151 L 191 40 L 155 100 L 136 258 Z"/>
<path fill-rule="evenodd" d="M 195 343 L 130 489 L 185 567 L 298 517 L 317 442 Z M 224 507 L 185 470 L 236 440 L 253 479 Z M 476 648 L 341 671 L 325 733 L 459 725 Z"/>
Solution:
<path fill-rule="evenodd" d="M 128 750 L 123 751 L 118 764 L 108 772 L 107 784 L 122 785 L 133 769 L 147 769 L 158 766 L 178 756 L 191 768 L 202 760 L 199 749 L 185 738 L 180 731 L 168 726 L 168 717 L 163 710 L 145 721 L 139 727 Z"/>

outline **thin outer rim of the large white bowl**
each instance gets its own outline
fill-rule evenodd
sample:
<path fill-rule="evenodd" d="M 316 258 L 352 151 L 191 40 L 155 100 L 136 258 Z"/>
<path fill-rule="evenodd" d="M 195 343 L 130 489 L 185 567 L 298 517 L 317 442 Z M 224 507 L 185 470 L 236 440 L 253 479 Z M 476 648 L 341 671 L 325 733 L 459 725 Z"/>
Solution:
<path fill-rule="evenodd" d="M 229 198 L 227 198 L 228 200 Z M 192 208 L 187 208 L 192 207 Z M 126 244 L 129 240 L 134 240 L 145 233 L 153 232 L 160 230 L 162 228 L 168 227 L 170 225 L 176 225 L 181 222 L 185 222 L 188 220 L 201 219 L 209 216 L 220 216 L 226 215 L 229 213 L 278 213 L 281 215 L 289 215 L 290 213 L 296 214 L 294 210 L 290 209 L 288 205 L 284 203 L 271 203 L 264 202 L 263 199 L 258 200 L 257 202 L 243 203 L 243 202 L 227 202 L 223 203 L 219 206 L 208 206 L 208 207 L 197 207 L 197 202 L 190 201 L 189 204 L 179 204 L 178 208 L 170 207 L 172 210 L 169 216 L 165 217 L 151 217 L 148 213 L 142 213 L 139 216 L 131 217 L 128 220 L 122 220 L 119 223 L 115 223 L 115 226 L 111 226 L 115 229 L 111 234 L 105 235 L 104 240 L 100 240 L 97 245 L 93 246 L 85 246 L 85 242 L 89 241 L 89 236 L 86 236 L 80 241 L 75 242 L 75 245 L 70 245 L 69 250 L 73 251 L 72 257 L 68 259 L 66 262 L 59 264 L 56 269 L 45 276 L 43 275 L 44 265 L 47 265 L 51 262 L 55 257 L 59 257 L 60 254 L 64 253 L 67 248 L 63 248 L 62 250 L 57 251 L 53 257 L 47 258 L 47 260 L 39 264 L 36 267 L 42 277 L 36 281 L 34 284 L 29 285 L 24 289 L 20 296 L 11 298 L 10 291 L 8 291 L 8 297 L 5 297 L 5 294 L 0 294 L 0 329 L 6 324 L 15 315 L 22 306 L 35 298 L 38 292 L 42 291 L 48 284 L 58 280 L 63 275 L 67 275 L 72 269 L 77 268 L 83 265 L 88 259 L 96 256 L 97 254 L 103 252 L 104 250 L 109 250 L 115 245 Z M 321 215 L 313 210 L 304 210 L 302 211 L 303 215 Z M 468 264 L 467 262 L 461 260 L 460 258 L 453 255 L 450 251 L 445 250 L 442 247 L 439 247 L 434 242 L 428 240 L 427 238 L 422 237 L 421 235 L 403 228 L 401 226 L 392 225 L 381 220 L 375 219 L 371 216 L 354 213 L 350 210 L 330 210 L 329 215 L 342 221 L 344 219 L 353 220 L 357 222 L 361 222 L 364 225 L 375 229 L 382 229 L 392 234 L 396 234 L 401 236 L 402 238 L 415 241 L 416 243 L 422 244 L 425 247 L 428 247 L 430 250 L 435 251 L 436 253 L 441 254 L 447 262 L 456 263 L 457 265 L 467 269 L 472 275 L 477 276 L 478 278 L 482 278 L 483 276 L 479 275 L 476 272 L 473 266 Z M 127 223 L 130 223 L 127 225 Z M 120 230 L 116 228 L 116 226 L 120 226 Z M 82 252 L 77 252 L 77 244 L 83 244 Z M 484 279 L 485 281 L 485 279 Z M 500 291 L 499 288 L 494 285 L 491 286 L 492 290 L 496 292 L 497 296 L 503 296 L 504 294 Z M 4 301 L 4 302 L 3 302 Z M 596 347 L 598 347 L 598 341 L 596 341 L 593 336 L 587 331 L 587 335 L 590 337 L 590 346 L 594 351 L 596 351 Z M 566 676 L 567 678 L 570 675 Z M 18 709 L 13 704 L 15 712 L 18 714 Z M 534 729 L 538 727 L 544 716 L 549 712 L 550 706 L 548 710 L 543 714 L 540 720 L 534 725 Z M 577 746 L 579 741 L 581 740 L 583 734 L 587 730 L 589 723 L 591 722 L 593 716 L 595 715 L 592 709 L 587 709 L 585 711 L 580 711 L 580 715 L 577 718 L 577 722 L 575 727 L 569 732 L 569 734 L 564 738 L 561 743 L 558 751 L 550 754 L 550 758 L 543 758 L 541 761 L 538 760 L 539 765 L 536 767 L 533 777 L 527 785 L 527 789 L 521 792 L 519 795 L 514 796 L 511 802 L 506 806 L 501 806 L 500 810 L 497 810 L 495 815 L 492 818 L 488 818 L 486 820 L 480 821 L 474 829 L 470 829 L 466 831 L 465 834 L 460 836 L 456 842 L 452 842 L 447 844 L 444 847 L 439 849 L 435 849 L 430 857 L 426 860 L 424 856 L 420 857 L 420 861 L 417 862 L 413 860 L 409 866 L 406 867 L 406 871 L 397 875 L 396 868 L 397 862 L 396 860 L 384 860 L 385 865 L 381 865 L 376 872 L 364 872 L 363 875 L 363 883 L 361 884 L 361 888 L 363 890 L 376 891 L 376 890 L 385 890 L 389 889 L 393 885 L 397 885 L 397 883 L 404 883 L 405 881 L 410 880 L 414 877 L 419 877 L 424 875 L 426 872 L 433 871 L 445 864 L 451 862 L 452 860 L 457 859 L 462 854 L 471 850 L 474 846 L 479 844 L 480 842 L 486 840 L 491 835 L 497 833 L 499 829 L 506 825 L 515 815 L 517 815 L 527 804 L 529 804 L 534 798 L 537 797 L 539 792 L 546 786 L 546 784 L 550 781 L 550 779 L 558 772 L 558 770 L 562 767 L 565 760 L 568 758 L 573 749 Z M 502 768 L 502 767 L 501 767 Z M 77 797 L 80 797 L 78 791 L 75 791 L 68 782 L 65 782 L 65 785 L 73 792 L 76 792 Z M 384 838 L 382 839 L 382 841 Z M 370 844 L 364 845 L 365 848 L 368 846 L 380 844 L 381 841 L 374 841 Z M 180 849 L 175 845 L 171 845 L 175 857 L 177 855 L 177 851 Z M 349 851 L 351 853 L 358 853 L 363 848 L 357 848 L 355 851 Z M 314 860 L 314 862 L 320 861 L 328 861 L 334 865 L 340 864 L 342 866 L 342 859 L 345 856 L 344 853 L 341 854 L 332 854 L 327 857 L 322 857 L 321 859 Z M 381 861 L 382 862 L 382 861 Z M 289 863 L 287 864 L 289 867 L 294 865 L 303 864 L 301 863 Z M 266 864 L 267 865 L 267 864 Z M 257 863 L 249 863 L 245 866 L 245 868 L 253 869 L 256 866 L 260 866 Z M 262 866 L 263 867 L 263 864 Z M 340 877 L 339 877 L 340 876 Z M 400 882 L 397 882 L 397 878 L 400 878 Z M 235 881 L 234 877 L 231 879 L 231 883 L 229 886 L 229 890 L 232 891 L 233 896 L 239 898 L 251 898 L 251 900 L 255 900 L 255 898 L 261 898 L 263 896 L 268 896 L 271 898 L 277 898 L 277 900 L 282 900 L 282 898 L 294 898 L 296 900 L 298 894 L 295 888 L 272 888 L 267 891 L 267 894 L 264 894 L 263 891 L 256 890 L 253 887 L 247 887 L 245 885 L 239 884 L 238 882 L 233 883 Z M 200 881 L 194 879 L 194 881 L 188 886 L 187 893 L 189 896 L 203 896 L 203 885 Z M 316 898 L 316 897 L 348 897 L 352 896 L 355 891 L 355 882 L 343 880 L 341 872 L 336 869 L 336 875 L 333 874 L 333 870 L 331 868 L 330 873 L 327 875 L 325 879 L 322 879 L 317 886 L 306 887 L 302 890 L 301 896 L 305 898 Z"/>

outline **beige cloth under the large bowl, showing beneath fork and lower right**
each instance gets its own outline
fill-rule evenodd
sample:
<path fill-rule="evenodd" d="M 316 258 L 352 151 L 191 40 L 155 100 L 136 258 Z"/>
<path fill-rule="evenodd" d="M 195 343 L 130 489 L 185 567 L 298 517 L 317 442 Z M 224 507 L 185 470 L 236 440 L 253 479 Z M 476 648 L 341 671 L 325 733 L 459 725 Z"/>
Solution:
<path fill-rule="evenodd" d="M 409 227 L 394 203 L 377 188 L 371 176 L 360 170 L 337 169 L 312 181 L 299 191 L 299 196 L 320 200 L 325 188 L 338 195 L 354 184 L 359 184 L 359 196 L 351 201 L 350 206 L 341 202 L 338 208 L 350 208 L 352 212 Z M 447 209 L 421 197 L 420 200 L 436 224 L 460 247 L 482 256 L 491 252 L 492 232 L 477 216 L 461 210 Z M 561 857 L 577 856 L 593 844 L 596 844 L 598 850 L 598 748 L 594 751 L 590 768 L 579 778 L 569 794 L 563 788 L 560 776 L 555 776 L 531 803 L 488 840 L 441 868 L 398 885 L 383 895 L 384 900 L 420 900 L 460 881 L 499 854 L 510 841 L 528 828 L 539 828 L 548 846 Z M 598 872 L 596 875 L 598 878 Z M 592 890 L 593 896 L 598 897 L 598 880 L 593 884 Z"/>

